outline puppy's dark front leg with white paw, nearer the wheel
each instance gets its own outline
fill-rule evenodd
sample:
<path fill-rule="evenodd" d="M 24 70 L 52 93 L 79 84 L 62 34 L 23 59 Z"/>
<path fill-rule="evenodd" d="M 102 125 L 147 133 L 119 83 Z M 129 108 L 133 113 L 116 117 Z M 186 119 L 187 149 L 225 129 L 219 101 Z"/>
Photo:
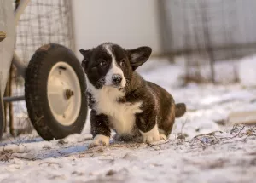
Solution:
<path fill-rule="evenodd" d="M 104 114 L 96 114 L 95 110 L 90 112 L 90 133 L 93 141 L 89 147 L 108 146 L 110 138 L 110 129 L 108 127 L 108 117 Z"/>

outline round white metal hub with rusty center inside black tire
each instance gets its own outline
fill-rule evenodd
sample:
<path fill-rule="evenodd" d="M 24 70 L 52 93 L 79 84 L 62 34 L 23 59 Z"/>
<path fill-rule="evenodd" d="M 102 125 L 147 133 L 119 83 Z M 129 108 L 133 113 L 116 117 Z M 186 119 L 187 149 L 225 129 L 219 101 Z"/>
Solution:
<path fill-rule="evenodd" d="M 55 119 L 68 126 L 75 122 L 81 107 L 79 78 L 71 66 L 58 62 L 49 71 L 47 96 Z"/>

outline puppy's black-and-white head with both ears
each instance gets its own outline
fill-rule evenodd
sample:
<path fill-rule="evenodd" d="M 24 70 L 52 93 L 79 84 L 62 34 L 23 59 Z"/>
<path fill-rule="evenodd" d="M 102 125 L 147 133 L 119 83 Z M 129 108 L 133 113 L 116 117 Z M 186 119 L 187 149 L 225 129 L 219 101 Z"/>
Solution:
<path fill-rule="evenodd" d="M 151 51 L 149 47 L 123 49 L 113 43 L 103 43 L 94 49 L 80 49 L 84 56 L 82 66 L 96 89 L 103 86 L 124 88 L 131 80 L 132 72 L 148 60 Z"/>

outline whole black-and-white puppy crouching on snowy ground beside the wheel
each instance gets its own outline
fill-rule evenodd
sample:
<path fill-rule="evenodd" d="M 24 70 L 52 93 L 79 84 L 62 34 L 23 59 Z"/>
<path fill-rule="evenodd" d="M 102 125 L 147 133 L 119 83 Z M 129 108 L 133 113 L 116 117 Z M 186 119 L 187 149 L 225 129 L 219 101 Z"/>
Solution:
<path fill-rule="evenodd" d="M 109 145 L 111 129 L 119 140 L 151 143 L 168 138 L 175 117 L 183 116 L 186 108 L 183 103 L 175 105 L 171 94 L 137 73 L 151 54 L 149 47 L 123 49 L 102 43 L 80 53 L 91 108 L 90 146 Z"/>

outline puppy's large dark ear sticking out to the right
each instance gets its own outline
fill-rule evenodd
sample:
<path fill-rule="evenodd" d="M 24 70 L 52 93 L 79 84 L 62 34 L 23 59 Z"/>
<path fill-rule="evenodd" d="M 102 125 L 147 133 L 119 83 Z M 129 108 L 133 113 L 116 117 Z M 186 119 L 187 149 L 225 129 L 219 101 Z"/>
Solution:
<path fill-rule="evenodd" d="M 139 47 L 137 49 L 127 49 L 133 71 L 135 71 L 138 66 L 142 66 L 148 60 L 151 52 L 152 49 L 146 46 Z"/>

